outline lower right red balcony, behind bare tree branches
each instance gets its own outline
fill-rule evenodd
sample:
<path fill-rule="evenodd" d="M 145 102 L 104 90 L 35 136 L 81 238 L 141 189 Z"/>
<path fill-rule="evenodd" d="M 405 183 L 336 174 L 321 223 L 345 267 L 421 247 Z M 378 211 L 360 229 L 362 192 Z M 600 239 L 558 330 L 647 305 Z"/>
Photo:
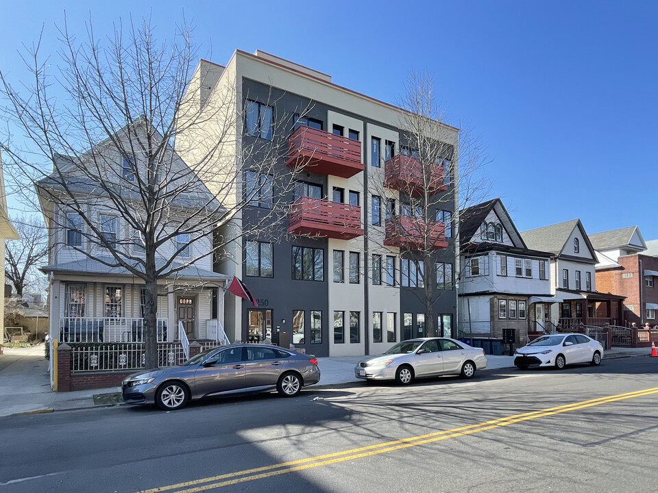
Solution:
<path fill-rule="evenodd" d="M 446 225 L 438 221 L 426 223 L 421 218 L 395 216 L 386 220 L 384 244 L 411 250 L 437 250 L 448 247 Z M 427 247 L 425 247 L 427 240 Z"/>

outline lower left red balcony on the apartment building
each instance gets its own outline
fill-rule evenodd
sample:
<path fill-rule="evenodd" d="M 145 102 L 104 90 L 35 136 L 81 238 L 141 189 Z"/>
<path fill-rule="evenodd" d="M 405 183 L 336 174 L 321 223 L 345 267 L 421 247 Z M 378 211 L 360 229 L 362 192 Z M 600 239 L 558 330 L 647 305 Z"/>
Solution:
<path fill-rule="evenodd" d="M 288 232 L 297 235 L 351 240 L 363 235 L 361 207 L 300 197 L 288 215 Z"/>

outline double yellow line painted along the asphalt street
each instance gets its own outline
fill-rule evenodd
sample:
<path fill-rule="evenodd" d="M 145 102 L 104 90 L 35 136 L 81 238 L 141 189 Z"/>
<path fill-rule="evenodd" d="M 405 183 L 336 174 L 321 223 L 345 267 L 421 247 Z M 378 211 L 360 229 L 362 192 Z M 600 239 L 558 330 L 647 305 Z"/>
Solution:
<path fill-rule="evenodd" d="M 435 431 L 434 433 L 427 433 L 426 435 L 417 435 L 414 437 L 402 438 L 400 440 L 391 440 L 390 442 L 382 442 L 379 444 L 352 448 L 351 450 L 341 452 L 316 455 L 315 457 L 308 457 L 307 459 L 281 462 L 280 464 L 273 464 L 271 466 L 263 466 L 237 472 L 229 472 L 228 474 L 224 475 L 206 477 L 204 479 L 195 479 L 194 481 L 186 481 L 184 483 L 177 483 L 168 486 L 161 486 L 160 488 L 143 490 L 138 493 L 160 493 L 169 492 L 172 490 L 177 490 L 175 493 L 203 492 L 215 488 L 222 488 L 223 486 L 245 483 L 246 481 L 254 481 L 256 479 L 287 474 L 288 472 L 315 468 L 318 466 L 327 466 L 328 464 L 335 464 L 337 462 L 344 462 L 348 460 L 360 459 L 361 457 L 368 457 L 370 455 L 392 452 L 400 450 L 401 448 L 438 442 L 439 440 L 446 440 L 447 438 L 456 438 L 463 435 L 470 435 L 471 433 L 478 433 L 479 431 L 487 431 L 493 428 L 513 425 L 514 423 L 521 421 L 543 418 L 544 416 L 551 416 L 552 414 L 560 414 L 563 412 L 575 411 L 576 409 L 584 409 L 585 407 L 592 407 L 595 405 L 611 403 L 614 401 L 622 401 L 624 399 L 633 399 L 634 397 L 642 397 L 657 393 L 658 387 L 655 387 L 644 390 L 637 390 L 636 392 L 626 392 L 626 394 L 605 396 L 598 399 L 591 399 L 589 401 L 581 401 L 557 407 L 549 407 L 548 409 L 541 409 L 539 411 L 531 411 L 522 414 L 515 414 L 513 416 L 506 416 L 505 418 L 480 422 L 476 425 L 452 428 L 445 431 Z"/>

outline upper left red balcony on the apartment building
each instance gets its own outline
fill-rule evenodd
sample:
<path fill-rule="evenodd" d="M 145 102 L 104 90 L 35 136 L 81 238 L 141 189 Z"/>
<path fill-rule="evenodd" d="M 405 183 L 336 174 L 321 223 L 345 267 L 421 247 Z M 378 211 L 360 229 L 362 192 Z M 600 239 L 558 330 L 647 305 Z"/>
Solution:
<path fill-rule="evenodd" d="M 349 178 L 363 171 L 361 142 L 302 126 L 288 138 L 286 164 L 320 175 Z"/>

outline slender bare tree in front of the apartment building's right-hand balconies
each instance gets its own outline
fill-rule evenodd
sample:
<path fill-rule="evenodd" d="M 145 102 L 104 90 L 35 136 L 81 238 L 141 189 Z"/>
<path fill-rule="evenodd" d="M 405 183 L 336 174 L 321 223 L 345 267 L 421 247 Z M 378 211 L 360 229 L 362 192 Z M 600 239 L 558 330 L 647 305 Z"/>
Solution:
<path fill-rule="evenodd" d="M 470 129 L 446 123 L 428 73 L 411 74 L 399 106 L 403 110 L 401 149 L 385 163 L 384 180 L 371 181 L 371 193 L 386 201 L 382 209 L 387 216 L 383 245 L 376 244 L 374 249 L 400 248 L 404 266 L 409 265 L 408 270 L 401 269 L 401 277 L 406 276 L 407 286 L 422 288 L 413 292 L 422 298 L 426 333 L 436 336 L 435 303 L 459 279 L 459 268 L 437 275 L 437 262 L 443 263 L 442 252 L 449 247 L 446 231 L 454 238 L 454 251 L 459 251 L 459 210 L 477 203 L 489 191 L 483 174 L 488 158 L 480 138 Z M 392 194 L 391 188 L 399 194 Z M 389 210 L 393 197 L 400 200 L 400 214 Z M 452 257 L 448 258 L 445 261 L 452 263 Z"/>

